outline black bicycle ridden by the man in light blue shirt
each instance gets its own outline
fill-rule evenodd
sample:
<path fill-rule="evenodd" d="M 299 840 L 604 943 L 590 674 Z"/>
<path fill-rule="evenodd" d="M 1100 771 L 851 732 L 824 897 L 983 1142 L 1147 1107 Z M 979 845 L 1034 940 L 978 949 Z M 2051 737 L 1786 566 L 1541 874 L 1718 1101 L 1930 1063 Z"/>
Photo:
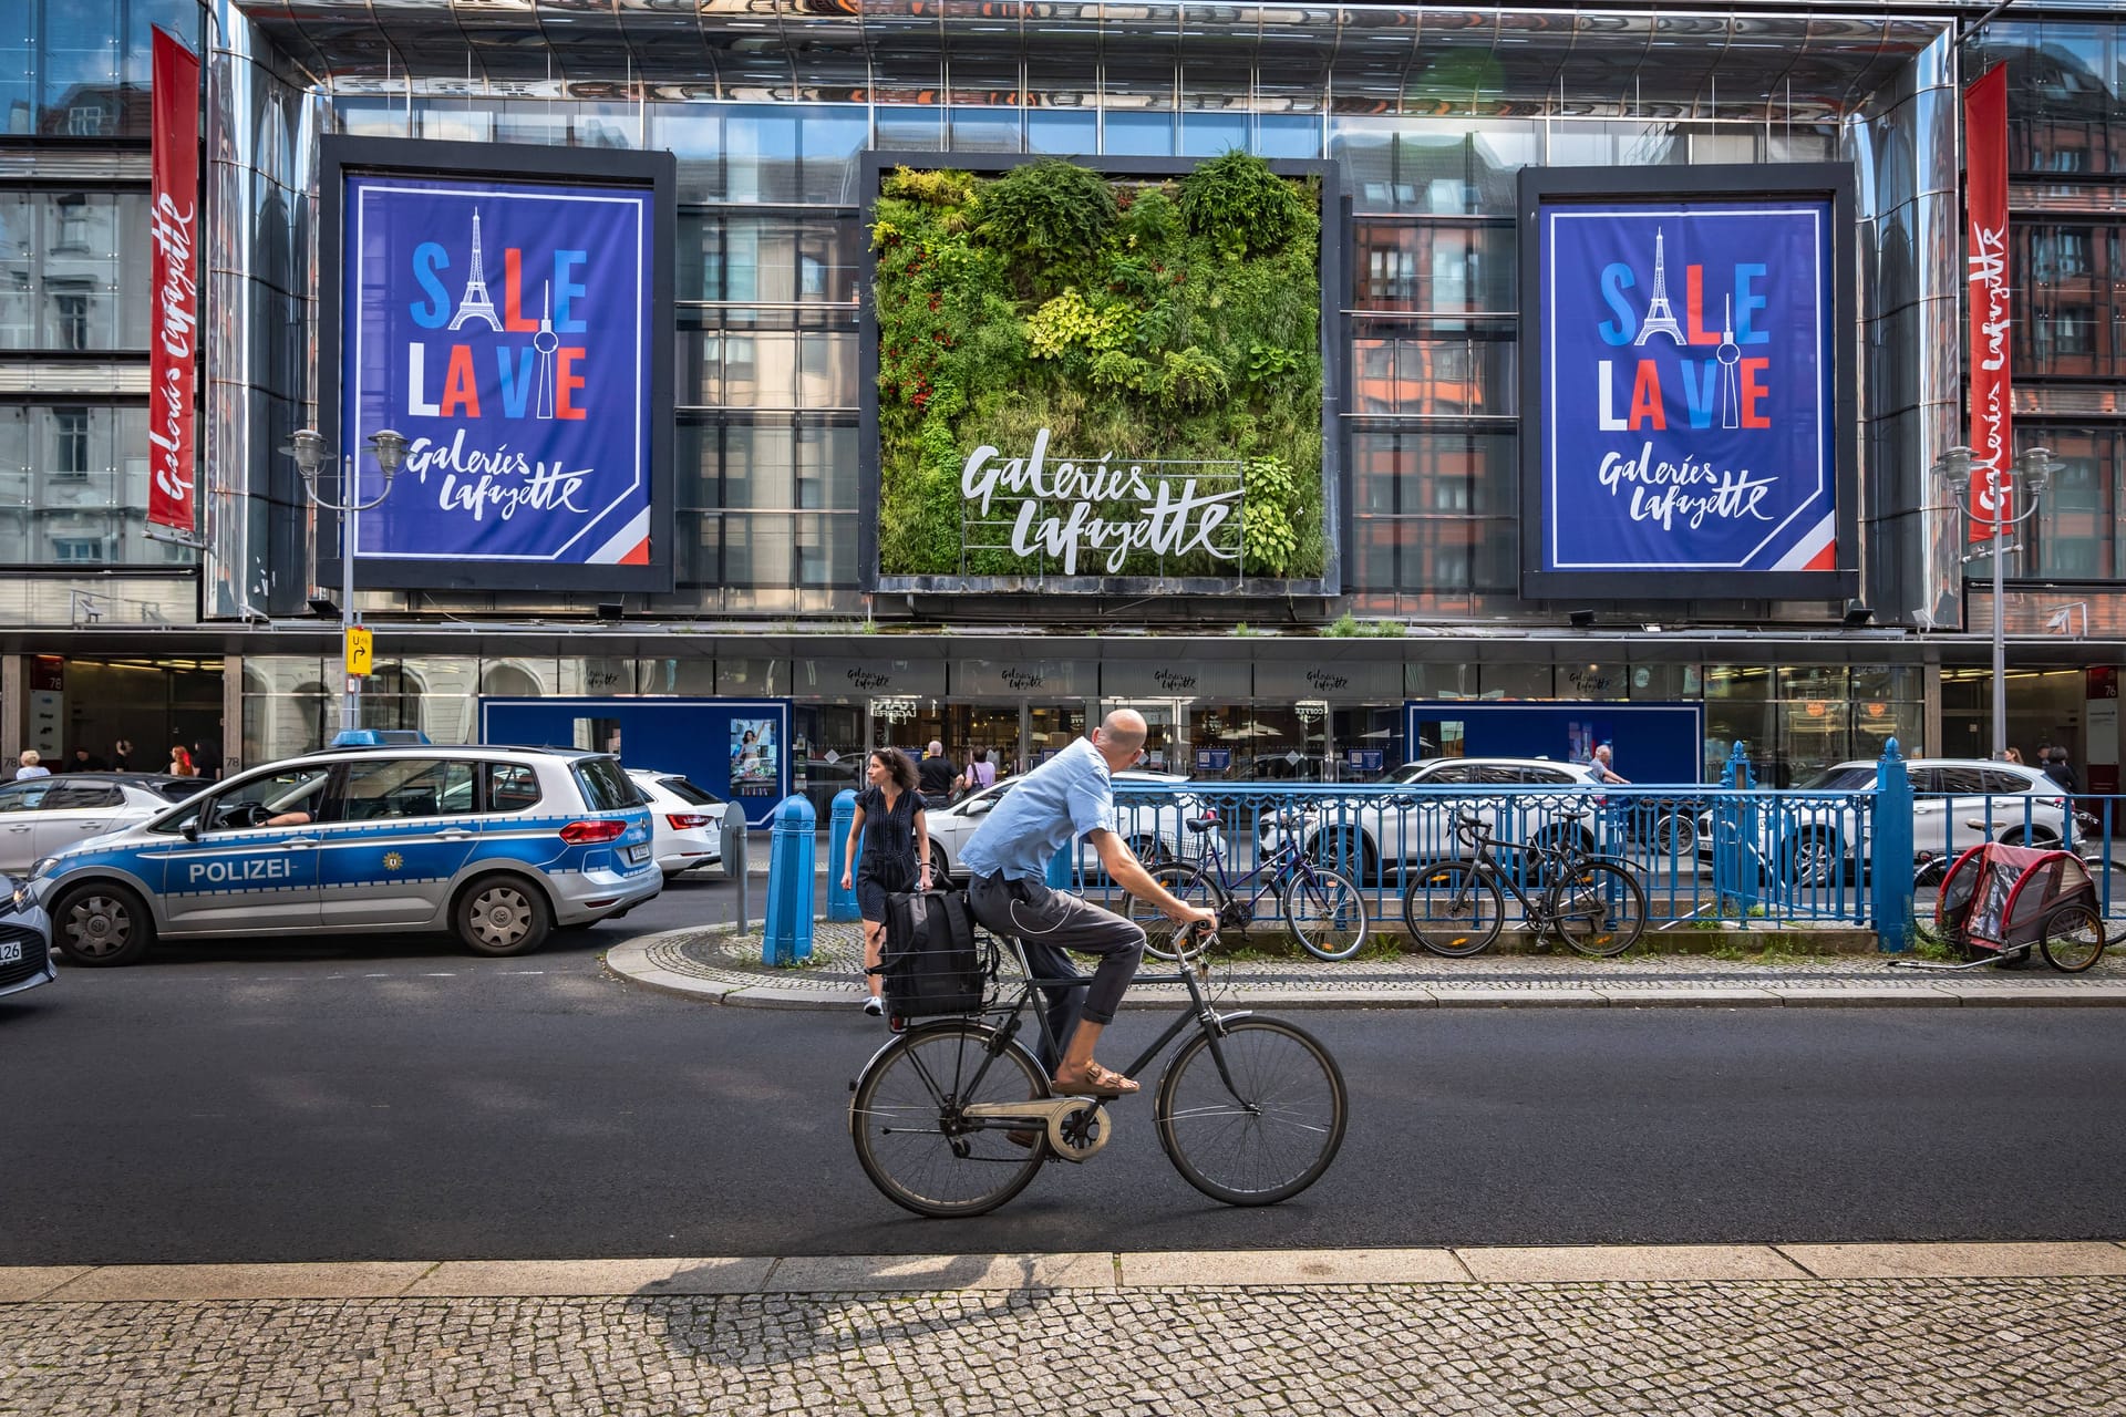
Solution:
<path fill-rule="evenodd" d="M 1018 1030 L 1042 988 L 1082 977 L 1033 977 L 980 1013 L 910 1024 L 850 1081 L 848 1134 L 872 1183 L 916 1215 L 961 1217 L 997 1209 L 1033 1181 L 1042 1162 L 1086 1162 L 1108 1145 L 1112 1098 L 1057 1094 Z M 1188 1001 L 1165 1032 L 1125 1069 L 1140 1075 L 1182 1039 L 1152 1094 L 1152 1126 L 1174 1168 L 1227 1205 L 1276 1205 L 1314 1185 L 1344 1145 L 1344 1073 L 1314 1035 L 1256 1013 L 1218 1013 L 1205 996 L 1208 941 L 1195 962 L 1140 984 L 1184 984 Z M 1044 1009 L 1042 1056 L 1061 1056 Z"/>

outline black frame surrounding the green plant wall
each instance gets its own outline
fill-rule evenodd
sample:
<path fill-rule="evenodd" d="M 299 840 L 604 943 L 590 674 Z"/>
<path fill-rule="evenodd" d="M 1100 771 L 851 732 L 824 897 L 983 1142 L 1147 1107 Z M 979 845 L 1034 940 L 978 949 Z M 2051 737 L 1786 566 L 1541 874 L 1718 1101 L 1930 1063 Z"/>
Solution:
<path fill-rule="evenodd" d="M 876 221 L 880 183 L 893 168 L 923 172 L 976 172 L 995 176 L 1029 161 L 1072 161 L 1108 178 L 1180 178 L 1210 157 L 1106 157 L 1097 153 L 946 153 L 931 149 L 865 149 L 859 153 L 857 223 L 865 236 Z M 1350 202 L 1344 198 L 1342 168 L 1318 157 L 1269 157 L 1278 176 L 1320 181 L 1320 244 L 1316 276 L 1320 312 L 1316 340 L 1322 359 L 1322 574 L 1312 580 L 1159 578 L 1159 576 L 882 576 L 878 569 L 878 251 L 863 242 L 863 287 L 857 297 L 857 582 L 865 595 L 1199 595 L 1218 601 L 1295 599 L 1344 595 L 1344 550 L 1350 546 L 1350 459 L 1344 457 L 1344 387 L 1348 382 L 1350 338 L 1344 319 L 1344 280 L 1350 261 Z"/>

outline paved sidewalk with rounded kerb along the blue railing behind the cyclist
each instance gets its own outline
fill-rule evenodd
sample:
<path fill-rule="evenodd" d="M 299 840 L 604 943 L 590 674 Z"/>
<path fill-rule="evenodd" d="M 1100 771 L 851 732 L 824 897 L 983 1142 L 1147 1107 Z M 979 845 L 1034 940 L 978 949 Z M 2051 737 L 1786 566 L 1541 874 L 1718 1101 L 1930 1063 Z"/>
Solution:
<path fill-rule="evenodd" d="M 1767 941 L 1769 943 L 1769 941 Z M 1892 969 L 1882 954 L 1779 956 L 1765 943 L 1728 937 L 1731 952 L 1650 954 L 1641 943 L 1616 960 L 1575 954 L 1429 954 L 1218 960 L 1216 986 L 1252 1007 L 1490 1007 L 1490 1005 L 2126 1005 L 2126 947 L 2094 969 L 2062 975 L 2032 960 L 2024 969 L 1956 973 Z M 761 962 L 761 931 L 710 926 L 646 935 L 606 954 L 606 964 L 653 988 L 759 1007 L 853 1007 L 863 994 L 863 937 L 857 924 L 814 922 L 812 958 L 793 969 Z M 1146 960 L 1144 973 L 1169 969 Z M 1006 971 L 1010 977 L 1012 971 Z M 1180 986 L 1133 986 L 1125 1007 L 1171 1007 Z"/>

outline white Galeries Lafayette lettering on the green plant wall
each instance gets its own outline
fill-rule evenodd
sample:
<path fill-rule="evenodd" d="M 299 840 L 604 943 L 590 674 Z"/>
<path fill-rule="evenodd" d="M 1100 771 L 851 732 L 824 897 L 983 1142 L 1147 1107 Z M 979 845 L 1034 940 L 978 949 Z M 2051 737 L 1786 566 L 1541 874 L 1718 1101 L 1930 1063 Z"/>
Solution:
<path fill-rule="evenodd" d="M 1042 429 L 1027 457 L 1006 461 L 989 444 L 967 455 L 959 493 L 976 518 L 989 518 L 997 499 L 1023 499 L 1012 523 L 1012 554 L 1042 554 L 1076 576 L 1080 552 L 1091 552 L 1089 561 L 1106 557 L 1108 574 L 1116 576 L 1137 550 L 1157 557 L 1201 550 L 1216 561 L 1239 561 L 1239 467 L 1235 463 L 1229 474 L 1212 467 L 1216 463 L 1118 465 L 1112 453 L 1089 463 L 1048 463 L 1048 429 Z M 1129 514 L 1114 516 L 1116 506 Z"/>

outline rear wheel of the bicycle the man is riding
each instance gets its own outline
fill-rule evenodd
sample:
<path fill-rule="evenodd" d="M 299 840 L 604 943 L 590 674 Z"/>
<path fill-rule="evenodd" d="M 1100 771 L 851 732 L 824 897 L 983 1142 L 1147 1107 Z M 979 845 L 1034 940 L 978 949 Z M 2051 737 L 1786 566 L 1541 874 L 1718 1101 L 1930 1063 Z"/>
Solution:
<path fill-rule="evenodd" d="M 910 1028 L 857 1079 L 848 1137 L 887 1200 L 942 1219 L 982 1215 L 1027 1188 L 1048 1154 L 1037 1126 L 1003 1128 L 961 1113 L 969 1103 L 1048 1096 L 1048 1079 L 1016 1041 L 991 1054 L 997 1030 L 974 1020 Z M 1006 1130 L 1031 1132 L 1018 1147 Z"/>

